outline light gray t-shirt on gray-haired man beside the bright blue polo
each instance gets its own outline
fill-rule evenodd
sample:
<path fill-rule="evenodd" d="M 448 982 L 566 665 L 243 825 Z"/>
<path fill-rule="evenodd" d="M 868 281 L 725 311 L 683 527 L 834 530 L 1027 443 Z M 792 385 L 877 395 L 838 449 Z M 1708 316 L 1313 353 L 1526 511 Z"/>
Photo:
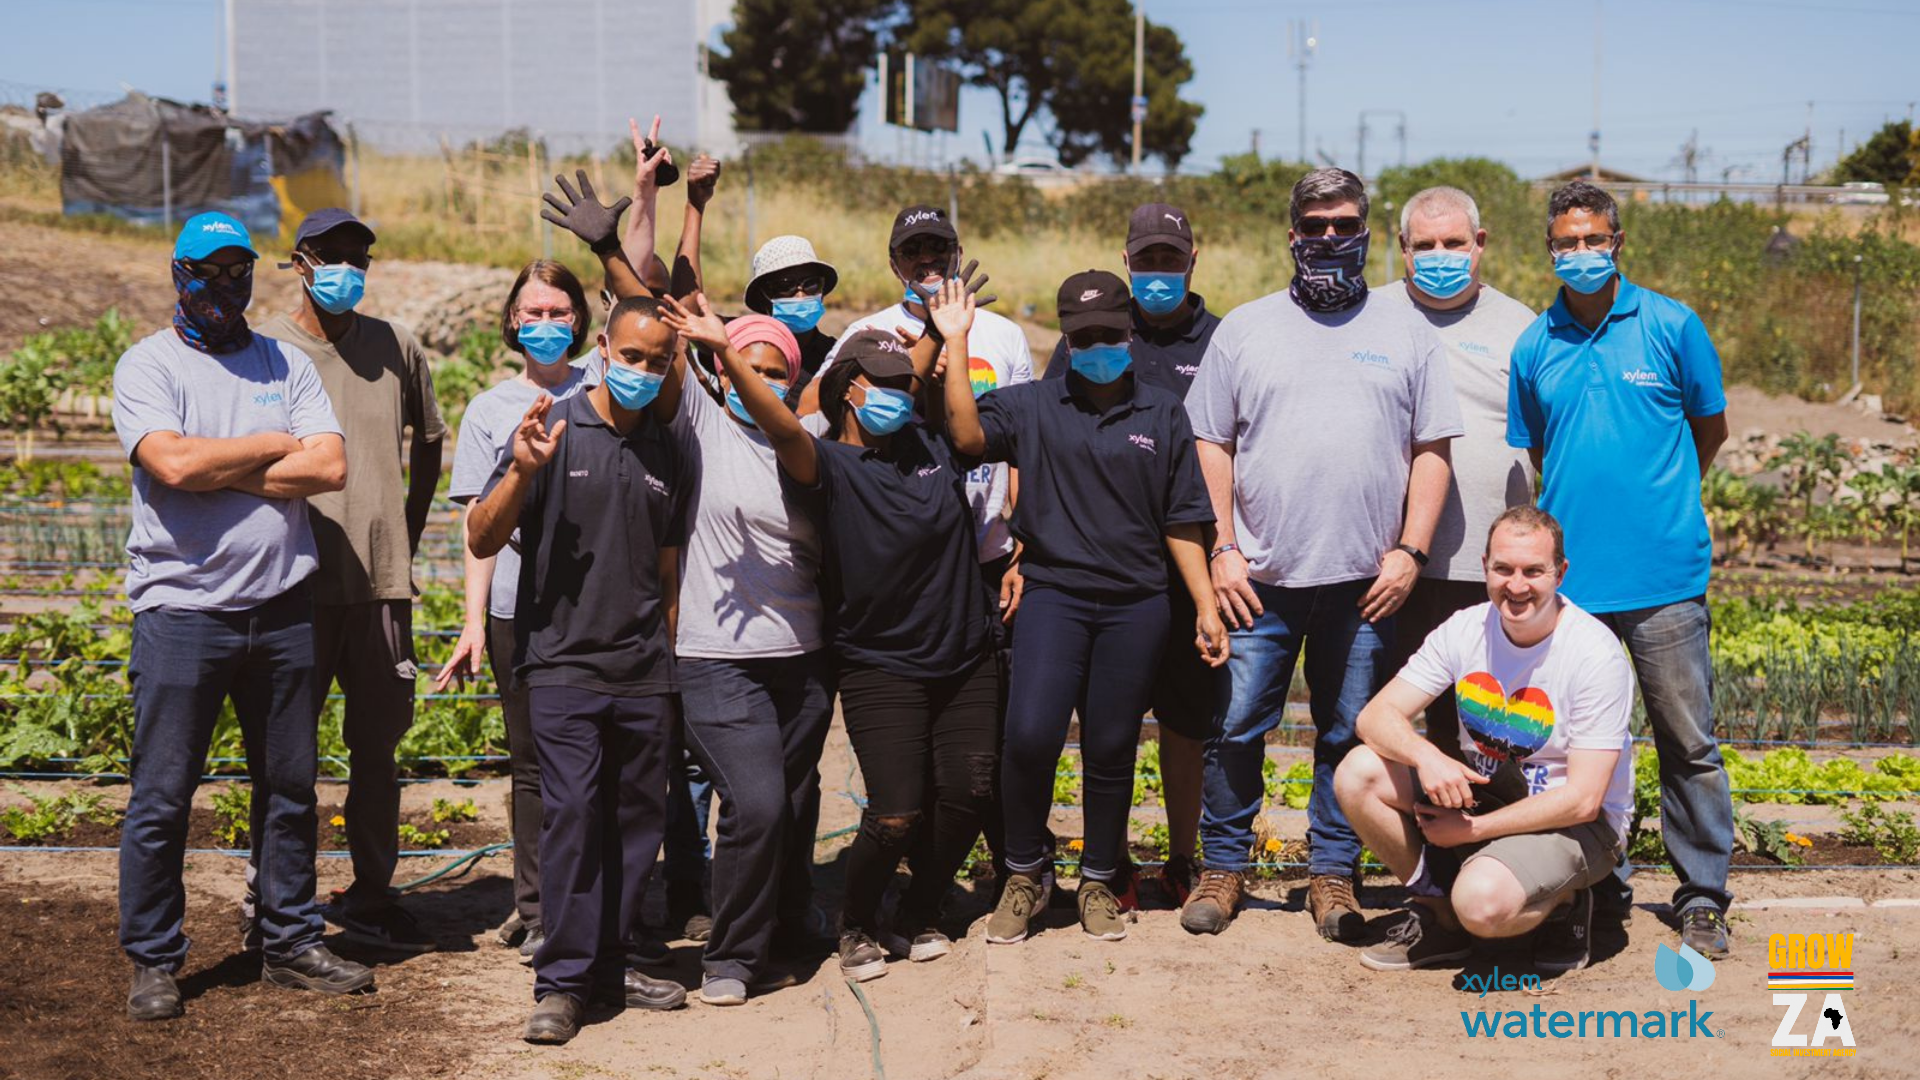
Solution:
<path fill-rule="evenodd" d="M 1453 486 L 1421 577 L 1484 580 L 1486 530 L 1509 505 L 1534 502 L 1534 465 L 1524 450 L 1507 446 L 1507 363 L 1534 313 L 1490 284 L 1453 311 L 1421 307 L 1404 281 L 1380 290 L 1382 300 L 1388 296 L 1405 300 L 1440 334 L 1467 429 L 1453 440 Z"/>

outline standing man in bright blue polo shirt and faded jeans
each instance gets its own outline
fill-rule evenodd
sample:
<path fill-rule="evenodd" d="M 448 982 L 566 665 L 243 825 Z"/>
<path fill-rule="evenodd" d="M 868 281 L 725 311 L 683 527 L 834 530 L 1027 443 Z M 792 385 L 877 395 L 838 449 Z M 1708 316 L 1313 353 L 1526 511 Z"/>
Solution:
<path fill-rule="evenodd" d="M 1661 838 L 1680 888 L 1680 940 L 1724 957 L 1734 803 L 1713 734 L 1699 479 L 1726 442 L 1720 354 L 1699 315 L 1620 277 L 1613 196 L 1574 181 L 1548 202 L 1563 286 L 1513 346 L 1507 442 L 1567 527 L 1567 596 L 1626 642 L 1661 757 Z M 1622 865 L 1596 909 L 1630 911 Z"/>

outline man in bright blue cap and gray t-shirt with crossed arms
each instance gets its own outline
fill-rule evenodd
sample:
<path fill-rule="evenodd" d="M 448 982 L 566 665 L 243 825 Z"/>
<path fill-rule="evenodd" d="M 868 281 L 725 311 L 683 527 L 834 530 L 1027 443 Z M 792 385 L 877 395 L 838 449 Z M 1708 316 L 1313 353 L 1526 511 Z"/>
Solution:
<path fill-rule="evenodd" d="M 253 784 L 263 978 L 346 994 L 372 972 L 321 944 L 315 903 L 313 598 L 307 496 L 346 484 L 326 390 L 298 348 L 246 323 L 253 242 L 225 213 L 173 248 L 173 325 L 113 369 L 113 429 L 132 461 L 132 798 L 121 832 L 127 1015 L 180 1015 L 186 821 L 221 703 Z"/>

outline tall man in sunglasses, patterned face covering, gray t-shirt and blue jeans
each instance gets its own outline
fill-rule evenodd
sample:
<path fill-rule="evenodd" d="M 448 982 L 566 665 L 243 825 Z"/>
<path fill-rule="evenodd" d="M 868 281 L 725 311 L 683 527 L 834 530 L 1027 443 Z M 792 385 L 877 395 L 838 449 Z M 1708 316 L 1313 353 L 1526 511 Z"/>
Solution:
<path fill-rule="evenodd" d="M 1390 675 L 1392 615 L 1427 563 L 1448 442 L 1463 429 L 1432 327 L 1405 304 L 1369 298 L 1359 177 L 1308 173 L 1288 215 L 1292 284 L 1221 319 L 1187 394 L 1233 659 L 1206 749 L 1206 871 L 1181 926 L 1217 934 L 1238 909 L 1265 736 L 1304 653 L 1315 730 L 1308 909 L 1323 938 L 1352 942 L 1365 928 L 1354 896 L 1359 836 L 1332 774 Z"/>

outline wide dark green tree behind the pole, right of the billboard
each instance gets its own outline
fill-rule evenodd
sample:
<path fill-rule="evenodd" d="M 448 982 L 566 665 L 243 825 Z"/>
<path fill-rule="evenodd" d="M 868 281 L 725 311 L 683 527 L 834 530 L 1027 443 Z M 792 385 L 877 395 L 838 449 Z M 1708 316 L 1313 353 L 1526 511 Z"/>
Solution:
<path fill-rule="evenodd" d="M 1131 156 L 1133 6 L 1127 0 L 908 0 L 900 44 L 948 60 L 1000 96 L 1000 152 L 1050 115 L 1046 142 L 1068 163 L 1096 152 Z M 1169 167 L 1187 156 L 1200 106 L 1179 86 L 1192 63 L 1177 33 L 1146 25 L 1144 150 Z"/>

